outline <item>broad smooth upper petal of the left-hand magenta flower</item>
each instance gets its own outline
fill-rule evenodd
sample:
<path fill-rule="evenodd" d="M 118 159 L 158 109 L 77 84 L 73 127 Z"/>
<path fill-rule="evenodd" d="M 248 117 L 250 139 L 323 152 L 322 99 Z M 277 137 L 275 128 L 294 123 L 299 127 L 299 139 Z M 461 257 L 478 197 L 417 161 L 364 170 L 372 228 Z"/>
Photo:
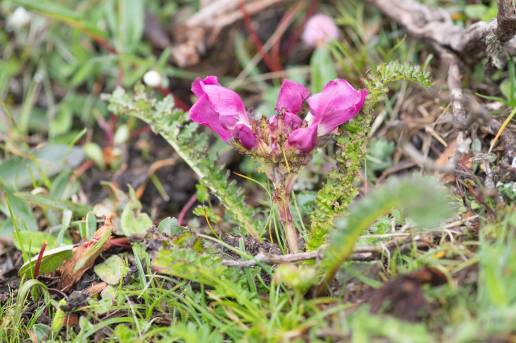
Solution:
<path fill-rule="evenodd" d="M 223 126 L 233 130 L 237 123 L 249 124 L 244 102 L 236 92 L 219 85 L 203 85 L 202 89 Z"/>

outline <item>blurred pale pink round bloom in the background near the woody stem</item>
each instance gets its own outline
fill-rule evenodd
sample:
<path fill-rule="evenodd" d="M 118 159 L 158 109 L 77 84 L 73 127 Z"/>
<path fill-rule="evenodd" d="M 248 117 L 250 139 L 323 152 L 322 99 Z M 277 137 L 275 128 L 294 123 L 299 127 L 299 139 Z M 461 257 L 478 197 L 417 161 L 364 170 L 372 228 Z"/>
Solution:
<path fill-rule="evenodd" d="M 310 47 L 324 45 L 339 37 L 339 29 L 331 17 L 316 14 L 306 23 L 303 41 Z"/>

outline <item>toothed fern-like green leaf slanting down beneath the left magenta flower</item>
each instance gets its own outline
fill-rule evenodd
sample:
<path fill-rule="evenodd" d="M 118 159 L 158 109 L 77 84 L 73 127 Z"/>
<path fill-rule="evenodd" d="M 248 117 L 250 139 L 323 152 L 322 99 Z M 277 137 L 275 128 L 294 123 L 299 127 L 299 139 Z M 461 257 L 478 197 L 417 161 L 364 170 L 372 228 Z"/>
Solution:
<path fill-rule="evenodd" d="M 133 95 L 118 88 L 109 101 L 109 110 L 118 115 L 131 115 L 147 124 L 174 148 L 176 153 L 192 168 L 200 182 L 220 200 L 233 221 L 245 233 L 261 240 L 263 230 L 254 211 L 245 205 L 242 191 L 229 182 L 227 172 L 215 161 L 207 158 L 207 135 L 197 132 L 198 125 L 188 122 L 184 112 L 174 107 L 171 97 L 158 101 L 150 98 L 143 87 L 136 87 Z"/>

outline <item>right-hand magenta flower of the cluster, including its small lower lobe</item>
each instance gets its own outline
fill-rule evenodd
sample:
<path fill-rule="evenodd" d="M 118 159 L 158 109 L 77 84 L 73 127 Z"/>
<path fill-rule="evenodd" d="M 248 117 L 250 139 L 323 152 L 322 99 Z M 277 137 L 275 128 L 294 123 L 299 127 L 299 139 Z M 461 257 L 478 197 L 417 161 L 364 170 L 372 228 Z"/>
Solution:
<path fill-rule="evenodd" d="M 301 151 L 311 151 L 317 136 L 327 135 L 353 119 L 364 106 L 366 96 L 366 89 L 356 90 L 346 80 L 328 82 L 321 93 L 307 99 L 310 113 L 305 121 L 308 127 L 294 130 L 288 136 L 288 143 Z"/>

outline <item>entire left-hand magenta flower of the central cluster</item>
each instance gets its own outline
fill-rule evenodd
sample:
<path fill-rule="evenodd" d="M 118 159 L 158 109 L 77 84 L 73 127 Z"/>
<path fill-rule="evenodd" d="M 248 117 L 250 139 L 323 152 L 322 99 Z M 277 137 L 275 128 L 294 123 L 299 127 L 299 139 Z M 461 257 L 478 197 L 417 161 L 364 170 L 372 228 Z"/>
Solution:
<path fill-rule="evenodd" d="M 216 76 L 197 78 L 192 92 L 198 98 L 189 111 L 191 120 L 209 127 L 225 142 L 236 138 L 246 149 L 256 145 L 244 102 L 237 93 L 222 87 Z"/>

